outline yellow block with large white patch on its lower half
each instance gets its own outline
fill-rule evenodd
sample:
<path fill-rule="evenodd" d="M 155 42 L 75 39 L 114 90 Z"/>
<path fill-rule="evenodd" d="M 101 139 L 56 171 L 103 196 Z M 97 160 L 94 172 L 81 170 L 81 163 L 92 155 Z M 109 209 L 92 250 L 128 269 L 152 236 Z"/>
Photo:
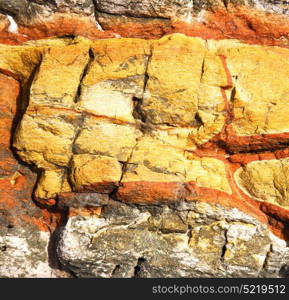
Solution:
<path fill-rule="evenodd" d="M 132 100 L 143 96 L 149 49 L 149 42 L 138 39 L 94 43 L 78 109 L 133 123 Z"/>

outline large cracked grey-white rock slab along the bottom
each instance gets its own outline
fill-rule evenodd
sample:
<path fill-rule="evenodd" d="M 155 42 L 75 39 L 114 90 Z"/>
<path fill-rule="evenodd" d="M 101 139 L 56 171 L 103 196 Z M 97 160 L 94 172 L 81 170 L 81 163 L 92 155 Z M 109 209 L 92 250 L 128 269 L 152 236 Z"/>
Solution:
<path fill-rule="evenodd" d="M 286 242 L 264 224 L 201 202 L 71 217 L 57 255 L 77 277 L 282 277 L 289 265 Z"/>

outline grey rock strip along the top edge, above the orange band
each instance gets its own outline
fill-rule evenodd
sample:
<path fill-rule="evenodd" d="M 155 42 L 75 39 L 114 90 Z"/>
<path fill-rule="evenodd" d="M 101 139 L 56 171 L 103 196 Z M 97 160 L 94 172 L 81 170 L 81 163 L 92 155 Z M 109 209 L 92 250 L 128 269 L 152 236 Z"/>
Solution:
<path fill-rule="evenodd" d="M 43 19 L 54 13 L 74 13 L 80 16 L 101 14 L 106 18 L 127 16 L 191 21 L 203 10 L 231 9 L 246 5 L 266 12 L 288 15 L 288 0 L 0 0 L 0 13 L 12 16 L 19 24 Z"/>

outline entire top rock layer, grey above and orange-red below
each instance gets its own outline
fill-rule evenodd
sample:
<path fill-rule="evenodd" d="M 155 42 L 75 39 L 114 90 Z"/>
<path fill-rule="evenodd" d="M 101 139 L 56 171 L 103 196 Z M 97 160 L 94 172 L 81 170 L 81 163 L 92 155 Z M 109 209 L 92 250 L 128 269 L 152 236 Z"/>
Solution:
<path fill-rule="evenodd" d="M 287 0 L 0 2 L 1 42 L 51 36 L 160 38 L 185 33 L 288 47 Z"/>

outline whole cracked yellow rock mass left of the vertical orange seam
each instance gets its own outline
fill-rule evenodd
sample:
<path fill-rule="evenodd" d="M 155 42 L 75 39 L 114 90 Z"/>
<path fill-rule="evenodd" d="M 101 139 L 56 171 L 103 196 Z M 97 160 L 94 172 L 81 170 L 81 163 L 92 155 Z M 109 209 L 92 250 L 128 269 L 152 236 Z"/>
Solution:
<path fill-rule="evenodd" d="M 124 42 L 131 50 L 117 52 Z M 221 161 L 188 159 L 183 153 L 214 137 L 225 122 L 221 91 L 227 85 L 226 72 L 204 42 L 183 35 L 153 44 L 80 40 L 42 51 L 13 144 L 22 160 L 49 171 L 38 182 L 37 198 L 68 191 L 61 179 L 67 178 L 63 167 L 72 168 L 75 191 L 107 182 L 118 185 L 123 178 L 194 181 L 230 193 Z M 168 63 L 174 51 L 179 62 Z M 159 155 L 164 161 L 155 164 Z M 127 164 L 135 167 L 123 174 L 120 163 L 124 171 Z M 92 174 L 101 165 L 111 167 Z"/>

